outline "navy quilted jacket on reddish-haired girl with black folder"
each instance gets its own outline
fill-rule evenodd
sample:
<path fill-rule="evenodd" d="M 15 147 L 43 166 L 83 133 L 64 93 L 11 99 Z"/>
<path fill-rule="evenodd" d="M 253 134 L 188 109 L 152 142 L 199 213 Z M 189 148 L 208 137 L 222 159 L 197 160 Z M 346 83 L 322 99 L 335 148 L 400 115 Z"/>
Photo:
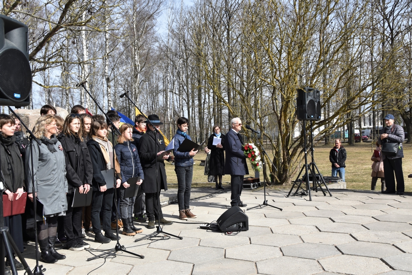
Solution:
<path fill-rule="evenodd" d="M 122 183 L 133 177 L 140 177 L 144 180 L 145 176 L 140 164 L 139 154 L 134 144 L 130 141 L 125 141 L 123 144 L 118 143 L 115 146 L 115 152 L 120 164 Z"/>

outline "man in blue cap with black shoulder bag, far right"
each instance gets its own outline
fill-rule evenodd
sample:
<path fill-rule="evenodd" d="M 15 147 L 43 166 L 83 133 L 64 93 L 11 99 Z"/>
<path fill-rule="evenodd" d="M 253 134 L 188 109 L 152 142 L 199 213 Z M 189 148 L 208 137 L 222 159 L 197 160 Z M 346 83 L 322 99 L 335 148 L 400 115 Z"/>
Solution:
<path fill-rule="evenodd" d="M 384 143 L 396 143 L 398 146 L 398 152 L 394 156 L 384 155 L 384 175 L 386 182 L 386 191 L 382 191 L 384 194 L 398 194 L 403 195 L 405 191 L 405 181 L 403 179 L 402 171 L 402 158 L 403 158 L 403 147 L 402 142 L 405 139 L 405 132 L 402 126 L 396 125 L 393 122 L 395 117 L 391 114 L 387 114 L 384 117 L 384 123 L 386 127 L 380 130 L 380 137 L 378 139 L 378 144 L 382 145 L 384 149 Z M 395 172 L 395 176 L 393 176 Z M 395 190 L 395 177 L 396 177 L 396 190 Z"/>

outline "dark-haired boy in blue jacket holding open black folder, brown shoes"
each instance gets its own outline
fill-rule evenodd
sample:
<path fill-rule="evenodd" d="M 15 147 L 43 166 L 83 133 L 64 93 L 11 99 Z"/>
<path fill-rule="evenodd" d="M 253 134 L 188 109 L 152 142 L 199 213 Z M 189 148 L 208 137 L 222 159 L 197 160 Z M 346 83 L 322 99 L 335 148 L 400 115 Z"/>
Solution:
<path fill-rule="evenodd" d="M 173 156 L 175 156 L 175 172 L 178 178 L 178 204 L 179 204 L 179 218 L 180 220 L 187 220 L 187 218 L 196 218 L 189 208 L 190 190 L 192 188 L 193 177 L 193 157 L 197 153 L 197 149 L 193 148 L 190 152 L 178 151 L 179 146 L 187 138 L 192 138 L 187 135 L 187 128 L 189 127 L 189 120 L 185 117 L 180 117 L 177 121 L 178 130 L 174 139 Z"/>

